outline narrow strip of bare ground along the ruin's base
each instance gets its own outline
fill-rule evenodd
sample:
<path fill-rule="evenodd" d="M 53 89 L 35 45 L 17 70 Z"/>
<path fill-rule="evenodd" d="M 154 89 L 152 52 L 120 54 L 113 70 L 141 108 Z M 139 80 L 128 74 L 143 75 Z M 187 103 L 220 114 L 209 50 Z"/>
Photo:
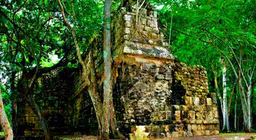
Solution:
<path fill-rule="evenodd" d="M 58 136 L 57 139 L 65 139 L 65 140 L 82 140 L 82 139 L 92 139 L 96 140 L 97 136 L 85 136 L 85 135 L 76 135 L 76 136 Z M 256 133 L 221 133 L 214 136 L 193 136 L 193 137 L 183 137 L 183 138 L 173 138 L 174 140 L 256 140 Z M 149 139 L 151 140 L 151 139 Z M 153 139 L 152 139 L 153 140 Z M 157 139 L 159 140 L 159 139 Z"/>

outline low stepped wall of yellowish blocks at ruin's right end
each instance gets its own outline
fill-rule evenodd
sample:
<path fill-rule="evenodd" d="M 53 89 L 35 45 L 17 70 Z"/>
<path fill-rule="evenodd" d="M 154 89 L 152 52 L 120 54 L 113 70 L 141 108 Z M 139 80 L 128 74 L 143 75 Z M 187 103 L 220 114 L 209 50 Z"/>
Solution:
<path fill-rule="evenodd" d="M 178 136 L 218 134 L 216 98 L 215 93 L 208 91 L 206 69 L 202 66 L 186 66 L 183 63 L 175 63 L 174 71 L 174 86 L 181 82 L 186 91 L 182 96 L 183 104 L 171 105 L 174 114 L 174 132 L 172 134 Z M 173 93 L 175 90 L 176 88 L 172 88 Z M 171 96 L 171 98 L 173 97 Z"/>

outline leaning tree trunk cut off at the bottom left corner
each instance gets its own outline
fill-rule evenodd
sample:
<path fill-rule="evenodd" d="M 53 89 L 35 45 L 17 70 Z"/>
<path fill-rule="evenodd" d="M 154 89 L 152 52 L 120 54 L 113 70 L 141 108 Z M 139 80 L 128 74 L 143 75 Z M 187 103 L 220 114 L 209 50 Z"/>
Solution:
<path fill-rule="evenodd" d="M 0 123 L 1 123 L 1 128 L 4 130 L 5 139 L 6 140 L 14 139 L 14 133 L 11 129 L 11 125 L 8 121 L 6 112 L 4 110 L 4 103 L 1 96 L 1 87 L 0 87 Z"/>

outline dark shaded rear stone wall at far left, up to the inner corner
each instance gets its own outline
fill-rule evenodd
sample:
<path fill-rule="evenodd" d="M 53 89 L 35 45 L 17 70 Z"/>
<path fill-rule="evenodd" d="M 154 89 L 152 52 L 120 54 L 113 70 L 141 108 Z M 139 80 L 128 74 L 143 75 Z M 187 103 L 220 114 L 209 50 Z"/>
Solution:
<path fill-rule="evenodd" d="M 52 134 L 68 134 L 70 132 L 70 116 L 72 103 L 69 97 L 73 92 L 70 74 L 74 69 L 54 69 L 48 74 L 38 78 L 38 87 L 33 95 L 34 100 L 41 108 L 41 114 L 46 117 L 46 122 Z M 23 108 L 19 127 L 25 135 L 41 135 L 41 123 L 28 103 L 18 103 Z M 21 132 L 22 133 L 22 132 Z"/>

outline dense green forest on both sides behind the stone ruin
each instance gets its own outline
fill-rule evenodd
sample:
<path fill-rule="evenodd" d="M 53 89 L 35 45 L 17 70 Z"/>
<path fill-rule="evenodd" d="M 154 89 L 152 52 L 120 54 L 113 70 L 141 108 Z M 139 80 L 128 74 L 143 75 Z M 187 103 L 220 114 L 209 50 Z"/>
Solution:
<path fill-rule="evenodd" d="M 36 77 L 58 66 L 78 67 L 77 46 L 82 55 L 100 50 L 90 43 L 103 40 L 104 1 L 59 2 L 0 1 L 1 97 L 13 127 L 17 97 L 21 93 L 22 98 L 31 97 Z M 121 2 L 112 1 L 112 17 Z M 151 0 L 150 4 L 159 12 L 161 32 L 178 60 L 206 67 L 210 91 L 218 95 L 220 129 L 255 132 L 256 1 Z M 63 22 L 62 10 L 68 22 Z"/>

